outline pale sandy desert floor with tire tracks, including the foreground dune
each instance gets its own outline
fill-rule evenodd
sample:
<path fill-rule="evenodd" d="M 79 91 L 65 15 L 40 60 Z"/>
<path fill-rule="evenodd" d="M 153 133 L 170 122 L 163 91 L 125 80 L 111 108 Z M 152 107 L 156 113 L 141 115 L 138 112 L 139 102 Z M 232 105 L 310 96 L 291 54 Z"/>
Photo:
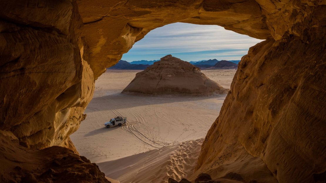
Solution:
<path fill-rule="evenodd" d="M 180 180 L 193 171 L 200 146 L 225 95 L 136 96 L 121 94 L 140 70 L 107 70 L 96 80 L 93 100 L 71 140 L 106 176 L 129 182 Z M 236 70 L 203 70 L 230 89 Z M 127 117 L 127 125 L 104 122 Z"/>

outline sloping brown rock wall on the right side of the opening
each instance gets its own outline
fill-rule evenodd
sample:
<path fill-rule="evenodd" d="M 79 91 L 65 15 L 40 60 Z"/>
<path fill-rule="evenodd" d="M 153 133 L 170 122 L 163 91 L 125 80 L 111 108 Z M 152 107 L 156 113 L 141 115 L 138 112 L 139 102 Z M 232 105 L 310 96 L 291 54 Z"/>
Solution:
<path fill-rule="evenodd" d="M 325 171 L 324 31 L 313 30 L 309 44 L 289 35 L 249 49 L 203 143 L 198 172 L 223 176 L 215 169 L 245 153 L 261 158 L 279 182 L 315 182 Z"/>

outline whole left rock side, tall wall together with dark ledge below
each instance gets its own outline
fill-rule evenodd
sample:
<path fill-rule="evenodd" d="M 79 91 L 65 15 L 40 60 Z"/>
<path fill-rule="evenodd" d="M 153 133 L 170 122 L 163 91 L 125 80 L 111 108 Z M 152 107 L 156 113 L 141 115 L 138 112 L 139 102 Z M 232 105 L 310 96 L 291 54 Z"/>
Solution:
<path fill-rule="evenodd" d="M 76 2 L 0 4 L 0 181 L 108 182 L 69 138 L 94 91 Z"/>

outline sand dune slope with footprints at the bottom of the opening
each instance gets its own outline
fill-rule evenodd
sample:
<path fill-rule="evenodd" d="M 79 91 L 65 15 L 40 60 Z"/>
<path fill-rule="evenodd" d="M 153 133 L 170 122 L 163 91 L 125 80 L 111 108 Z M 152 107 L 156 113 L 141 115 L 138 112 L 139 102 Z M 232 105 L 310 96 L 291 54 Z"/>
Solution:
<path fill-rule="evenodd" d="M 193 172 L 202 141 L 190 140 L 97 165 L 106 176 L 120 182 L 165 183 L 167 177 L 180 180 Z"/>

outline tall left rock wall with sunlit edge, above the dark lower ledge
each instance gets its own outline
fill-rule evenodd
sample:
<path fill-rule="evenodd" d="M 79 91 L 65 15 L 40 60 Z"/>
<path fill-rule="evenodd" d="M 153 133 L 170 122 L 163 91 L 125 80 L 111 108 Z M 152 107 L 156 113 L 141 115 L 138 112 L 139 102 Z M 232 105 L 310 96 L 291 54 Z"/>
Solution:
<path fill-rule="evenodd" d="M 94 90 L 77 4 L 2 1 L 0 9 L 0 129 L 24 147 L 67 146 Z"/>

